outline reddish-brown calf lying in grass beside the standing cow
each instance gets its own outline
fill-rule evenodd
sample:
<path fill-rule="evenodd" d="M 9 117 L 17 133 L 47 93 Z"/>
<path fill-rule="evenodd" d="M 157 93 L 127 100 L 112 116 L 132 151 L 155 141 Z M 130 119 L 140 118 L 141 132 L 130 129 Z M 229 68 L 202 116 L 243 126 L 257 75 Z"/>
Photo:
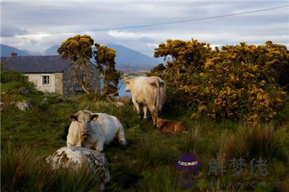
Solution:
<path fill-rule="evenodd" d="M 169 121 L 167 119 L 158 118 L 157 128 L 162 132 L 169 133 L 188 133 L 189 129 L 181 121 Z"/>

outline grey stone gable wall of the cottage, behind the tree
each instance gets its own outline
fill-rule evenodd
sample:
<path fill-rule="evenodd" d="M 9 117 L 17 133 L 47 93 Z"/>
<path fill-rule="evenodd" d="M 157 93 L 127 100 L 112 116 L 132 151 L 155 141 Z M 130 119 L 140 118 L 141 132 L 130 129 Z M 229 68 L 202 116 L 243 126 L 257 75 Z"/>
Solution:
<path fill-rule="evenodd" d="M 89 68 L 89 90 L 94 91 L 97 89 L 98 93 L 100 91 L 100 72 L 92 64 L 87 63 Z M 75 96 L 78 94 L 83 94 L 81 87 L 78 87 L 78 83 L 74 80 L 74 65 L 70 65 L 63 72 L 63 95 Z"/>

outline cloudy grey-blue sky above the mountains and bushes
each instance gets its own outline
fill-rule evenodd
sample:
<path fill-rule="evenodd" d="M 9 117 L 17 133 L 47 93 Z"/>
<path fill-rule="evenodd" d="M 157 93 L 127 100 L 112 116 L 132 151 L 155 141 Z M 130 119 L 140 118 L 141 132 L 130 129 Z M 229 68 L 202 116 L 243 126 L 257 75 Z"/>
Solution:
<path fill-rule="evenodd" d="M 111 29 L 151 23 L 200 19 L 289 5 L 289 1 L 1 1 L 1 43 L 44 51 L 74 33 L 100 44 L 118 44 L 153 56 L 168 38 L 191 38 L 211 45 L 266 40 L 289 47 L 289 8 L 154 27 Z M 83 32 L 111 29 L 103 32 Z M 51 34 L 52 33 L 52 34 Z M 59 34 L 53 34 L 59 33 Z"/>

